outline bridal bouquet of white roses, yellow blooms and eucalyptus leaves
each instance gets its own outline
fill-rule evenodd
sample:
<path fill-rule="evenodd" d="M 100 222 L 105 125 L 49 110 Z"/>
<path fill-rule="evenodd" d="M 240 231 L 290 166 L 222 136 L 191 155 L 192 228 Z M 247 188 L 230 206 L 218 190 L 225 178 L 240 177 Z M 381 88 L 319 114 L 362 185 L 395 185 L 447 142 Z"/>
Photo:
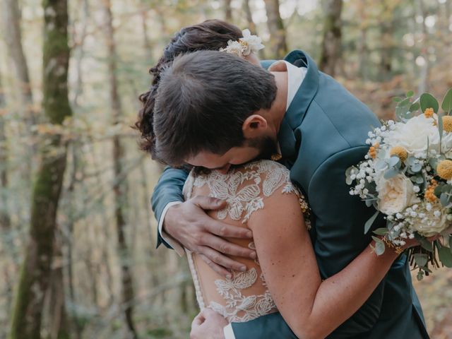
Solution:
<path fill-rule="evenodd" d="M 379 213 L 386 227 L 374 231 L 376 254 L 386 246 L 401 251 L 406 239 L 421 246 L 409 250 L 417 278 L 432 273 L 439 261 L 452 267 L 452 89 L 441 104 L 429 93 L 412 101 L 396 97 L 396 121 L 369 132 L 365 160 L 347 169 L 350 194 L 376 213 L 364 225 L 368 232 Z M 436 236 L 434 242 L 428 237 Z"/>

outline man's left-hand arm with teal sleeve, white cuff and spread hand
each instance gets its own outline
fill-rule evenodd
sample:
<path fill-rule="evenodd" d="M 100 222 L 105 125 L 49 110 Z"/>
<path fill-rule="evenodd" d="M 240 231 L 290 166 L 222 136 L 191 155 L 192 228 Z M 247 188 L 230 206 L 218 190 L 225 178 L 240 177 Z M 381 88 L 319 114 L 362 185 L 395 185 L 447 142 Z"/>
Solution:
<path fill-rule="evenodd" d="M 244 227 L 214 220 L 206 214 L 206 210 L 224 208 L 225 201 L 209 196 L 196 196 L 184 201 L 182 189 L 187 176 L 187 172 L 182 169 L 167 167 L 155 186 L 152 205 L 159 226 L 157 246 L 164 243 L 176 250 L 179 256 L 184 255 L 182 246 L 202 254 L 203 261 L 225 277 L 230 273 L 228 269 L 241 270 L 243 264 L 232 260 L 230 256 L 255 258 L 256 253 L 224 238 L 249 239 L 252 237 L 251 232 Z M 167 232 L 163 229 L 163 222 Z"/>

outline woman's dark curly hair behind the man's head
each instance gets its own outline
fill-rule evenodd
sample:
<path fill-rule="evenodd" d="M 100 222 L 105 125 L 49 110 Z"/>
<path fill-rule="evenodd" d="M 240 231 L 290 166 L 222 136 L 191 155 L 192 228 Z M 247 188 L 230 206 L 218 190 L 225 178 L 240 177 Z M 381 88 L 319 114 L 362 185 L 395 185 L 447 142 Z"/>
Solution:
<path fill-rule="evenodd" d="M 240 37 L 242 37 L 242 31 L 237 26 L 222 20 L 206 20 L 203 23 L 182 28 L 174 35 L 171 42 L 165 47 L 162 57 L 149 70 L 153 76 L 150 89 L 139 96 L 142 107 L 138 112 L 135 128 L 141 133 L 141 150 L 150 153 L 155 158 L 153 114 L 160 73 L 181 54 L 200 50 L 218 51 L 227 46 L 228 40 L 239 40 Z"/>

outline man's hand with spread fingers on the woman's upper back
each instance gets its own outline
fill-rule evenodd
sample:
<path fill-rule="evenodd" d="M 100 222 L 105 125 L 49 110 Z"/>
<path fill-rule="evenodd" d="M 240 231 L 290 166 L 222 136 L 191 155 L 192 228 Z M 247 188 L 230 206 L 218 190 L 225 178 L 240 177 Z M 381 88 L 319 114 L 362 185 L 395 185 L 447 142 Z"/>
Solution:
<path fill-rule="evenodd" d="M 243 263 L 234 261 L 225 254 L 256 258 L 255 251 L 223 239 L 224 237 L 249 239 L 253 237 L 250 230 L 228 225 L 206 214 L 205 210 L 219 210 L 225 205 L 226 201 L 217 198 L 195 196 L 169 208 L 163 224 L 169 235 L 186 249 L 199 254 L 210 268 L 224 277 L 230 275 L 227 268 L 246 270 Z"/>

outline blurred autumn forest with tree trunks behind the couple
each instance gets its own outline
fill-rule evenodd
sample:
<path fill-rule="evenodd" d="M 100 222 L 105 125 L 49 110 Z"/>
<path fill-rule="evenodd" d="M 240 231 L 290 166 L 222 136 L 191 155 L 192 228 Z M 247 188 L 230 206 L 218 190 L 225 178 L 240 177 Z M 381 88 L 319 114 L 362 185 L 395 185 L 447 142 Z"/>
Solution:
<path fill-rule="evenodd" d="M 382 119 L 452 86 L 450 0 L 2 0 L 0 338 L 188 338 L 184 258 L 155 249 L 162 167 L 130 128 L 174 32 L 222 18 L 303 49 Z M 452 338 L 452 270 L 415 282 Z"/>

